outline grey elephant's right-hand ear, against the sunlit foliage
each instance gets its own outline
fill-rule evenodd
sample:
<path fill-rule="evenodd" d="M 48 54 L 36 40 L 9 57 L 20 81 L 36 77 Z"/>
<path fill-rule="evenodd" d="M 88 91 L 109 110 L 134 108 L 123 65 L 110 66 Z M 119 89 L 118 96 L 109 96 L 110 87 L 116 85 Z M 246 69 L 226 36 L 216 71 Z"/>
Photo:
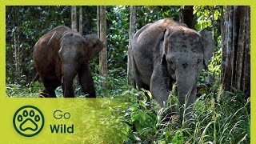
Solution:
<path fill-rule="evenodd" d="M 203 45 L 203 63 L 204 66 L 208 65 L 210 58 L 213 55 L 215 42 L 211 37 L 209 31 L 206 29 L 200 30 L 199 34 L 202 36 L 202 45 Z"/>

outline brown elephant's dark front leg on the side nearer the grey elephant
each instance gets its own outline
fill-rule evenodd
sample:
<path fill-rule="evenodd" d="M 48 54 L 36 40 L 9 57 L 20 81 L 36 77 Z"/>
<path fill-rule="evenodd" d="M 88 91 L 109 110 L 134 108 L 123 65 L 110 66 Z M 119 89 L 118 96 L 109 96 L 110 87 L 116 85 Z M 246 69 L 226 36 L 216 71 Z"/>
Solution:
<path fill-rule="evenodd" d="M 85 94 L 89 94 L 86 98 L 96 98 L 94 80 L 90 74 L 89 64 L 86 64 L 81 70 L 78 71 L 79 82 Z"/>

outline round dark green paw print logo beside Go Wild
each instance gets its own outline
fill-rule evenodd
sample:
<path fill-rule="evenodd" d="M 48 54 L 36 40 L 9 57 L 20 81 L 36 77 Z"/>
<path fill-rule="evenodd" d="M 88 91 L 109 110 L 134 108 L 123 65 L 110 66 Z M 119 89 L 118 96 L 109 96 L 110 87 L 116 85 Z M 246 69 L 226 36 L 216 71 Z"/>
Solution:
<path fill-rule="evenodd" d="M 45 119 L 42 111 L 35 106 L 22 106 L 13 119 L 14 129 L 24 137 L 33 137 L 41 132 Z"/>

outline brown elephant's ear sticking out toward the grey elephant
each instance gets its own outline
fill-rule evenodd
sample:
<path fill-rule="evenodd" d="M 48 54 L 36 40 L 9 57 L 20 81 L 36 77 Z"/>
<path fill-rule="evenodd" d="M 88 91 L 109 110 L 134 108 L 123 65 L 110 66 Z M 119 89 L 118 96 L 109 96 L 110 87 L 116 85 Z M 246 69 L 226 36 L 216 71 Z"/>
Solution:
<path fill-rule="evenodd" d="M 87 34 L 85 39 L 86 51 L 88 53 L 89 60 L 91 60 L 105 47 L 105 44 L 99 40 L 97 34 Z"/>

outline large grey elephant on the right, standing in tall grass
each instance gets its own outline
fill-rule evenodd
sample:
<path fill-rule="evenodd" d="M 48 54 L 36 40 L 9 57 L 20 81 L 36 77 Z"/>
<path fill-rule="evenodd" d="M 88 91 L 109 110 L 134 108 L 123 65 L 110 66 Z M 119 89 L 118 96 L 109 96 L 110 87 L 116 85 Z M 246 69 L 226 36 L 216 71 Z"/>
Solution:
<path fill-rule="evenodd" d="M 150 90 L 164 107 L 176 86 L 178 102 L 186 105 L 185 115 L 189 115 L 195 102 L 198 75 L 208 65 L 214 46 L 206 29 L 197 32 L 171 18 L 143 26 L 131 43 L 130 58 L 138 90 Z M 170 99 L 173 104 L 174 98 Z M 168 109 L 171 115 L 178 111 L 183 118 L 184 109 Z"/>

